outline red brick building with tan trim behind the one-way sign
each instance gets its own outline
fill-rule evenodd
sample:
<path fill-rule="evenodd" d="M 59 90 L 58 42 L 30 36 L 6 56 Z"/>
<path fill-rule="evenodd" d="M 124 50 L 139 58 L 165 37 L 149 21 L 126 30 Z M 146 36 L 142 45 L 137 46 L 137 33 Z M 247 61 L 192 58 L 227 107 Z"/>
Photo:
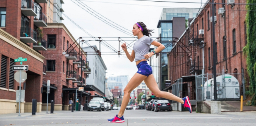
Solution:
<path fill-rule="evenodd" d="M 21 112 L 32 111 L 32 99 L 37 100 L 37 112 L 42 107 L 42 80 L 46 41 L 40 34 L 47 27 L 45 5 L 47 0 L 1 0 L 0 1 L 0 113 L 18 112 L 16 90 L 20 85 L 14 80 L 13 65 L 19 57 L 27 58 L 28 65 L 25 98 Z M 21 89 L 24 89 L 24 83 Z"/>

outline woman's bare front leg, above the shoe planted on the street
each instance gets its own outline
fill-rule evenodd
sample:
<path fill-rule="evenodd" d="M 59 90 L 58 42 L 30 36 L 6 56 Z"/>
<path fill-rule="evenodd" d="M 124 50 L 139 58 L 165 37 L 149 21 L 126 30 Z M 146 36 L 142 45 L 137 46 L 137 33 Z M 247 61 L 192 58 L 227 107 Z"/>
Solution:
<path fill-rule="evenodd" d="M 124 115 L 124 110 L 125 110 L 126 106 L 128 105 L 128 102 L 130 99 L 130 94 L 131 94 L 132 90 L 135 89 L 136 87 L 138 87 L 138 85 L 140 85 L 140 83 L 145 78 L 147 78 L 147 76 L 136 73 L 136 74 L 134 74 L 132 79 L 128 82 L 128 84 L 124 88 L 124 97 L 122 100 L 121 109 L 118 112 L 118 117 L 122 117 Z"/>

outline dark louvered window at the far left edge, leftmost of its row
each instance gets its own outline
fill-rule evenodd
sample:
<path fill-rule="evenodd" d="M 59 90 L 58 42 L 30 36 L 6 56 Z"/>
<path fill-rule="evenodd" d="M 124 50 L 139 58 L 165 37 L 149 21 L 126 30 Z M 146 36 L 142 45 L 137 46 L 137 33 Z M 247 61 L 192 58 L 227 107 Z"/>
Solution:
<path fill-rule="evenodd" d="M 2 55 L 1 72 L 0 72 L 0 87 L 6 88 L 6 72 L 7 72 L 7 56 Z"/>

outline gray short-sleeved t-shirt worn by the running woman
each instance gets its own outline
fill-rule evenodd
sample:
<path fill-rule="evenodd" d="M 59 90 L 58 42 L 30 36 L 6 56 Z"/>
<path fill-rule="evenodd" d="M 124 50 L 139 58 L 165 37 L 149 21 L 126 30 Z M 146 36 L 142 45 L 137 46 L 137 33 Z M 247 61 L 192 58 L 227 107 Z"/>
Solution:
<path fill-rule="evenodd" d="M 148 54 L 151 43 L 154 40 L 150 37 L 144 35 L 133 46 L 133 50 L 135 52 L 135 62 L 138 60 L 146 59 L 144 55 Z"/>

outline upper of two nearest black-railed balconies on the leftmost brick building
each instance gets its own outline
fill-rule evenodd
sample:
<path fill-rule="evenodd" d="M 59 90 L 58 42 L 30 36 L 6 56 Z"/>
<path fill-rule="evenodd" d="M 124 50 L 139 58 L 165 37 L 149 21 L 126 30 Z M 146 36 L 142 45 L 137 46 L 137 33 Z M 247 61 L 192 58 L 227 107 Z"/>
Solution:
<path fill-rule="evenodd" d="M 25 16 L 36 16 L 34 10 L 34 2 L 32 0 L 21 0 L 21 12 Z"/>

